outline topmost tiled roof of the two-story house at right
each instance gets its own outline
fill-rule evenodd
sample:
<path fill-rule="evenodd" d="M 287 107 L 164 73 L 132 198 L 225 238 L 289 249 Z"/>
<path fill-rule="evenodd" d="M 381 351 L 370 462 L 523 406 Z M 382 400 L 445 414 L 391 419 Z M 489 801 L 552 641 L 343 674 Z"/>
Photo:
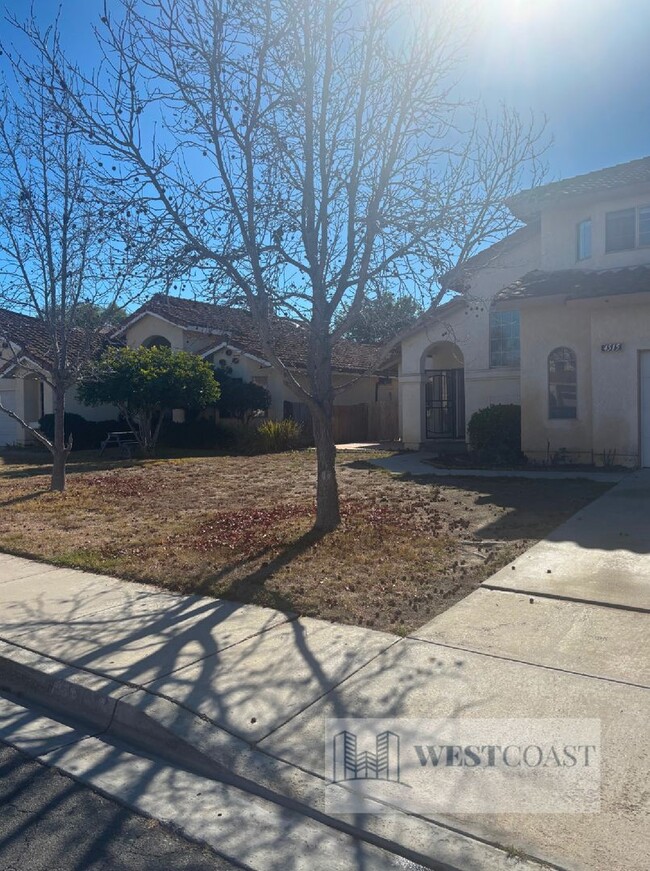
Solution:
<path fill-rule="evenodd" d="M 506 200 L 510 211 L 521 221 L 533 220 L 551 202 L 586 194 L 599 194 L 617 188 L 650 183 L 650 157 L 641 157 L 605 169 L 561 179 L 550 184 L 520 191 Z"/>

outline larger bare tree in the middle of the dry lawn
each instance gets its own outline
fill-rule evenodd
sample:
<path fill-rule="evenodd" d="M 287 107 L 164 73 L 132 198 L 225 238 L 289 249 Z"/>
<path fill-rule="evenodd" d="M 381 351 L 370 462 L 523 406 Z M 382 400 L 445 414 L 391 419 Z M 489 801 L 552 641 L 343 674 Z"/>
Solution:
<path fill-rule="evenodd" d="M 503 198 L 541 150 L 532 122 L 485 123 L 454 98 L 456 24 L 404 6 L 123 0 L 118 17 L 105 7 L 96 74 L 61 70 L 83 79 L 77 123 L 167 221 L 167 256 L 245 297 L 309 406 L 320 530 L 340 521 L 332 348 L 378 289 L 430 297 L 506 230 Z M 308 331 L 304 381 L 275 341 L 279 315 Z"/>

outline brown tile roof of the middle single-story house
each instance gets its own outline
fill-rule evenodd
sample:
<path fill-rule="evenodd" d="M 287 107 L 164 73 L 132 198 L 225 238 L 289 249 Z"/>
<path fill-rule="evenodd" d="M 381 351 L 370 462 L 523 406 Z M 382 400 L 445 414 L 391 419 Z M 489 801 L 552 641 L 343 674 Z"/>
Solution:
<path fill-rule="evenodd" d="M 197 302 L 162 293 L 155 294 L 140 306 L 120 324 L 113 335 L 122 335 L 147 314 L 160 317 L 191 332 L 207 333 L 212 337 L 211 344 L 217 344 L 216 340 L 223 339 L 244 353 L 265 359 L 259 332 L 251 314 L 245 309 Z M 304 369 L 309 341 L 306 327 L 289 318 L 275 318 L 271 330 L 274 349 L 282 362 L 290 369 Z M 372 369 L 378 356 L 379 349 L 374 345 L 340 339 L 332 350 L 332 364 L 337 371 L 359 374 Z"/>

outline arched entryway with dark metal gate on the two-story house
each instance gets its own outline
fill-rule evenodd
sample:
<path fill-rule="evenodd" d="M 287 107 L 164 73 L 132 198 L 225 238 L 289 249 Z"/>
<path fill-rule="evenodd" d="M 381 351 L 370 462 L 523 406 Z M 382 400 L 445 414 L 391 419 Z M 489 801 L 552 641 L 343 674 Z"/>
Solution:
<path fill-rule="evenodd" d="M 465 441 L 464 365 L 463 352 L 453 342 L 436 342 L 422 355 L 427 442 Z"/>

